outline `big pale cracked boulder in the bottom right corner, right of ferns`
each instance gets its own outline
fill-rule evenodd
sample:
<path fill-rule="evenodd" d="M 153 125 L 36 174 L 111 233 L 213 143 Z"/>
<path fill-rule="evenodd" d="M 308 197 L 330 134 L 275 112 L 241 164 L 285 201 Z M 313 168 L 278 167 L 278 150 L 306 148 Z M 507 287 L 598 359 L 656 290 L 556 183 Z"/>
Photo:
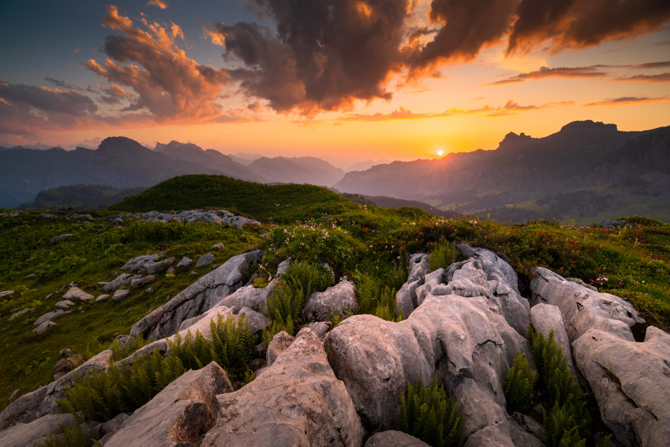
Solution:
<path fill-rule="evenodd" d="M 670 335 L 650 326 L 644 342 L 599 329 L 573 342 L 604 423 L 627 447 L 667 446 L 670 439 Z"/>

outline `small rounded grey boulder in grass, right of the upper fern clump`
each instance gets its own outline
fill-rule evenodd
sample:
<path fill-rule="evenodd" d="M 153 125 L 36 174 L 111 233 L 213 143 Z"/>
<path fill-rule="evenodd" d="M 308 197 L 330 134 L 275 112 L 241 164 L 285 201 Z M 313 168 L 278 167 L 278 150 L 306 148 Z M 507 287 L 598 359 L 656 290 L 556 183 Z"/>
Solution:
<path fill-rule="evenodd" d="M 333 317 L 346 318 L 359 311 L 354 284 L 346 279 L 323 292 L 309 295 L 302 310 L 305 321 L 325 321 Z"/>

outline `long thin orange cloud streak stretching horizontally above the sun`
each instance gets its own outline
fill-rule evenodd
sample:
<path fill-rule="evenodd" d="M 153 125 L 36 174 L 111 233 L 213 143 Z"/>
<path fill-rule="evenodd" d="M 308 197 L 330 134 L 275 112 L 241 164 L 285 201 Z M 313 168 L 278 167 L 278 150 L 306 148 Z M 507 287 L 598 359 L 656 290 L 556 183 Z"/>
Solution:
<path fill-rule="evenodd" d="M 505 115 L 514 115 L 519 111 L 526 110 L 537 110 L 544 108 L 557 107 L 560 105 L 574 105 L 574 101 L 561 101 L 558 103 L 546 103 L 541 105 L 519 105 L 511 99 L 505 103 L 505 105 L 492 107 L 491 105 L 484 105 L 480 108 L 449 108 L 444 112 L 437 113 L 415 113 L 411 110 L 405 109 L 403 107 L 398 110 L 394 110 L 390 113 L 373 113 L 373 114 L 358 114 L 351 113 L 343 115 L 342 117 L 336 120 L 336 124 L 341 124 L 342 122 L 351 122 L 351 121 L 362 121 L 362 122 L 378 122 L 378 121 L 392 121 L 395 119 L 423 119 L 423 118 L 440 118 L 440 117 L 452 117 L 454 115 L 473 115 L 477 113 L 486 113 L 487 117 L 500 117 Z"/>

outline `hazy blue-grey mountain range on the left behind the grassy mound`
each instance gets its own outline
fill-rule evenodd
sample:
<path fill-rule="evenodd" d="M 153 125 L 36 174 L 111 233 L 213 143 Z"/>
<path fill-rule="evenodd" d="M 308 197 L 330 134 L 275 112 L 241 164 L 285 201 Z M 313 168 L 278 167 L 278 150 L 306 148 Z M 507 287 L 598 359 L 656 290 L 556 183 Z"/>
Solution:
<path fill-rule="evenodd" d="M 66 151 L 0 147 L 0 207 L 31 203 L 40 191 L 94 184 L 128 189 L 184 174 L 223 174 L 254 182 L 332 186 L 344 171 L 314 157 L 262 157 L 244 166 L 214 149 L 172 141 L 152 150 L 125 137 L 105 138 L 98 149 Z"/>

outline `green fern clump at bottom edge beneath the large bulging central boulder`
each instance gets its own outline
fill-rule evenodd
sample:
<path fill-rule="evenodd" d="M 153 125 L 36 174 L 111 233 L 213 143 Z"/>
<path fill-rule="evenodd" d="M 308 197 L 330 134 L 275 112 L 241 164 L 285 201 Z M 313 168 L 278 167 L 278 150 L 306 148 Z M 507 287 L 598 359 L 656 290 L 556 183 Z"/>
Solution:
<path fill-rule="evenodd" d="M 433 377 L 426 388 L 419 379 L 417 386 L 407 384 L 407 398 L 402 394 L 402 430 L 434 447 L 456 446 L 461 435 L 463 414 L 456 413 L 456 402 L 447 397 L 445 387 L 438 388 Z"/>

